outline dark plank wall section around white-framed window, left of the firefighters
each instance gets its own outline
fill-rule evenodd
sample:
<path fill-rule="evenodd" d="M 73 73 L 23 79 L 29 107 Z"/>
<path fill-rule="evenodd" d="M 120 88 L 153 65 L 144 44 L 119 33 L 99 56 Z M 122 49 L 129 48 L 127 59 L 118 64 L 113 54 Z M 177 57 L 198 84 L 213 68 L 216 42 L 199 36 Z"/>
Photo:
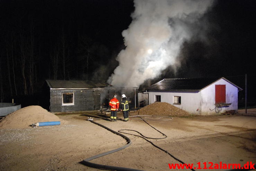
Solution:
<path fill-rule="evenodd" d="M 62 105 L 62 93 L 74 93 L 74 105 Z M 100 92 L 97 89 L 50 90 L 51 112 L 86 111 L 100 109 Z"/>

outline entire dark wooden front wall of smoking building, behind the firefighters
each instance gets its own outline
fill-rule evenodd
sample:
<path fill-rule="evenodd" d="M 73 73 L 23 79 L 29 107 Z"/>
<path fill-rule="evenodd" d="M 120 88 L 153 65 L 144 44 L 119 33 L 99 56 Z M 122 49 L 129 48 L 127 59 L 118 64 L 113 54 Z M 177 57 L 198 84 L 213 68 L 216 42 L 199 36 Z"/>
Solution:
<path fill-rule="evenodd" d="M 74 105 L 62 105 L 62 93 L 74 93 Z M 108 102 L 117 94 L 117 99 L 122 100 L 125 94 L 129 103 L 129 108 L 138 108 L 138 89 L 50 89 L 50 110 L 51 112 L 71 112 L 99 110 L 100 105 L 108 107 Z M 136 98 L 136 99 L 135 99 Z"/>

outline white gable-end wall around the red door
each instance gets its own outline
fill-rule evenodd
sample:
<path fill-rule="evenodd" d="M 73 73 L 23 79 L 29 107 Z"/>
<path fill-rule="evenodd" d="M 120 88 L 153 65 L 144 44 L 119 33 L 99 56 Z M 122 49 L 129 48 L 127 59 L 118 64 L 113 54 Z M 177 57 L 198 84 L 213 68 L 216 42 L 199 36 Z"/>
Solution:
<path fill-rule="evenodd" d="M 232 103 L 228 107 L 222 107 L 220 112 L 229 110 L 238 110 L 238 88 L 224 79 L 214 82 L 210 86 L 201 90 L 202 105 L 201 110 L 203 115 L 217 114 L 215 111 L 215 85 L 226 85 L 226 103 Z"/>

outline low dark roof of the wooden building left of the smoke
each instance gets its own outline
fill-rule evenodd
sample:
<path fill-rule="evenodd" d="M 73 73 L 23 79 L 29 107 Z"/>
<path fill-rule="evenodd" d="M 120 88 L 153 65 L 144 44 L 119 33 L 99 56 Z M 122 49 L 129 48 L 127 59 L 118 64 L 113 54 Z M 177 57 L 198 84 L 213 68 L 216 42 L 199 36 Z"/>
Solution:
<path fill-rule="evenodd" d="M 109 85 L 104 81 L 46 80 L 46 82 L 50 89 L 103 88 Z"/>

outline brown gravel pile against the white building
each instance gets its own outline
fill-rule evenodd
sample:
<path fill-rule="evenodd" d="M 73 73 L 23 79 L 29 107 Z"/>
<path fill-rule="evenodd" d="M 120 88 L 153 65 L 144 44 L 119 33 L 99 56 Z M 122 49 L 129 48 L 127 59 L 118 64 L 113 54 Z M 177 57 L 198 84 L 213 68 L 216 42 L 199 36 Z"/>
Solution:
<path fill-rule="evenodd" d="M 155 102 L 145 106 L 139 110 L 140 115 L 159 115 L 159 116 L 176 116 L 186 117 L 191 116 L 191 113 L 179 109 L 167 102 Z"/>

